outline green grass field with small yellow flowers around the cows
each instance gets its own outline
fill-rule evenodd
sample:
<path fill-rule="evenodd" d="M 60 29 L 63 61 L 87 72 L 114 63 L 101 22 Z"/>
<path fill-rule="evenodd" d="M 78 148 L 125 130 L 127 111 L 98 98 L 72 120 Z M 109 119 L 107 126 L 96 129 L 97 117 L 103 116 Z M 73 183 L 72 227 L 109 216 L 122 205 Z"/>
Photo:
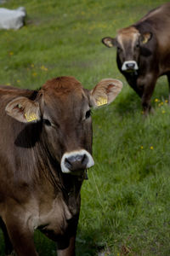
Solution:
<path fill-rule="evenodd" d="M 144 119 L 139 97 L 118 72 L 116 50 L 100 43 L 164 2 L 8 0 L 1 5 L 27 11 L 26 26 L 0 31 L 1 84 L 36 89 L 61 75 L 75 76 L 88 89 L 108 77 L 124 84 L 115 102 L 93 113 L 95 166 L 82 186 L 77 256 L 170 255 L 167 78 L 158 80 L 155 113 Z M 42 234 L 36 232 L 35 242 L 41 256 L 55 255 L 54 242 Z"/>

